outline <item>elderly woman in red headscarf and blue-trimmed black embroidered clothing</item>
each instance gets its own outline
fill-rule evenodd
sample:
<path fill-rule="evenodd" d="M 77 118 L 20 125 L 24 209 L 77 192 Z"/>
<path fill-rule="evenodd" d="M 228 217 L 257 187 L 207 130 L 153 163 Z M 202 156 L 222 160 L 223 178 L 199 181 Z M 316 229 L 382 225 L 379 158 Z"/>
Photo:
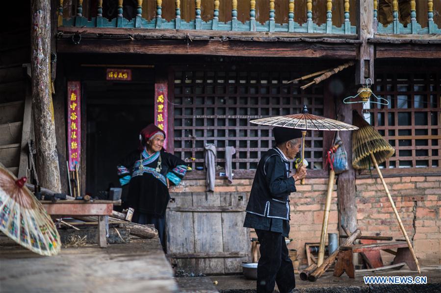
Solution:
<path fill-rule="evenodd" d="M 122 186 L 129 187 L 125 206 L 134 208 L 132 221 L 154 224 L 165 248 L 165 209 L 170 182 L 178 185 L 187 171 L 185 162 L 162 148 L 165 132 L 150 124 L 139 135 L 140 147 L 118 165 Z"/>

